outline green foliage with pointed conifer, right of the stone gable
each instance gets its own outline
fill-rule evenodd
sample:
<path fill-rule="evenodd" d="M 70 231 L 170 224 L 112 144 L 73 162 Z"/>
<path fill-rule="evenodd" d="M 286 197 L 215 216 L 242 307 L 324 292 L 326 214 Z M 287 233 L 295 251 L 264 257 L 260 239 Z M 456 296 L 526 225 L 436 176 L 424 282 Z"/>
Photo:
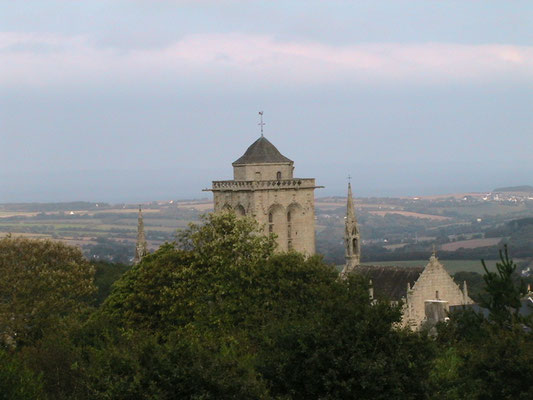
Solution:
<path fill-rule="evenodd" d="M 439 327 L 445 352 L 436 360 L 432 379 L 440 398 L 533 398 L 533 324 L 518 313 L 525 288 L 513 276 L 516 265 L 507 248 L 500 259 L 497 271 L 485 270 L 483 277 L 481 305 L 488 318 L 465 309 Z"/>

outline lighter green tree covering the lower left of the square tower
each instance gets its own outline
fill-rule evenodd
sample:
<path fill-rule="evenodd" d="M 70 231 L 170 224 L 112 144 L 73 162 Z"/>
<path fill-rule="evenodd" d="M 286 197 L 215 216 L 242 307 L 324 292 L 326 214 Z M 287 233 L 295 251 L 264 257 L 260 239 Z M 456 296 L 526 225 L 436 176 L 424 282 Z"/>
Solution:
<path fill-rule="evenodd" d="M 126 272 L 102 311 L 127 326 L 161 334 L 192 321 L 211 327 L 236 322 L 236 315 L 228 320 L 229 309 L 255 288 L 255 275 L 273 254 L 274 237 L 260 234 L 254 220 L 232 213 L 210 214 L 204 222 L 191 224 L 176 243 L 161 246 Z"/>

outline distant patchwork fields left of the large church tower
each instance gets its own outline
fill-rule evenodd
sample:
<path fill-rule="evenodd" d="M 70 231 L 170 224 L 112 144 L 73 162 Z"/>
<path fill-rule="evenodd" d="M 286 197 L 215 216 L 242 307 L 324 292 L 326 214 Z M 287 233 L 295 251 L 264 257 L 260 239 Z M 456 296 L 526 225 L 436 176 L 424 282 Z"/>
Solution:
<path fill-rule="evenodd" d="M 156 249 L 164 242 L 172 241 L 178 229 L 198 220 L 212 204 L 206 201 L 154 202 L 142 207 L 148 244 L 151 249 Z M 80 247 L 95 244 L 99 238 L 133 245 L 137 220 L 138 205 L 0 205 L 0 236 L 50 238 Z"/>

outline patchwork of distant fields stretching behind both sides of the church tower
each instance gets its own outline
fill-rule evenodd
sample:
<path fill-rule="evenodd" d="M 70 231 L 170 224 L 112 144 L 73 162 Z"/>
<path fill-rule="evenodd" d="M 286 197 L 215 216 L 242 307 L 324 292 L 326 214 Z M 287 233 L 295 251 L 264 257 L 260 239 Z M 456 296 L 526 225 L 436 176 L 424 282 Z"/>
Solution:
<path fill-rule="evenodd" d="M 485 200 L 484 194 L 456 194 L 432 197 L 356 198 L 363 249 L 382 247 L 387 252 L 418 251 L 412 257 L 396 258 L 373 254 L 370 260 L 416 259 L 393 265 L 424 265 L 433 245 L 442 252 L 465 252 L 497 246 L 504 235 L 485 233 L 511 220 L 533 216 L 533 201 Z M 174 200 L 142 204 L 149 248 L 172 241 L 179 229 L 213 209 L 210 199 Z M 345 197 L 324 197 L 315 201 L 317 248 L 328 262 L 344 257 Z M 48 204 L 0 204 L 0 236 L 9 233 L 33 238 L 52 238 L 87 250 L 90 246 L 121 246 L 132 257 L 137 236 L 137 204 L 90 202 Z M 119 246 L 119 247 L 120 247 Z M 131 250 L 131 251 L 130 251 Z M 100 248 L 98 257 L 105 255 Z M 365 251 L 365 250 L 364 250 Z M 374 250 L 375 251 L 375 250 Z M 491 250 L 492 251 L 492 250 Z M 421 254 L 424 253 L 424 254 Z M 532 249 L 533 253 L 533 249 Z M 367 251 L 367 256 L 369 252 Z M 494 251 L 497 256 L 497 251 Z M 477 256 L 476 256 L 477 257 Z M 418 259 L 420 260 L 418 261 Z M 463 254 L 447 261 L 450 272 L 478 271 L 477 260 L 462 260 Z M 466 257 L 468 258 L 468 257 Z M 479 257 L 477 257 L 479 259 Z M 124 260 L 124 258 L 122 258 Z M 374 263 L 377 264 L 377 263 Z M 390 265 L 391 262 L 386 262 Z M 379 264 L 378 264 L 379 265 Z"/>

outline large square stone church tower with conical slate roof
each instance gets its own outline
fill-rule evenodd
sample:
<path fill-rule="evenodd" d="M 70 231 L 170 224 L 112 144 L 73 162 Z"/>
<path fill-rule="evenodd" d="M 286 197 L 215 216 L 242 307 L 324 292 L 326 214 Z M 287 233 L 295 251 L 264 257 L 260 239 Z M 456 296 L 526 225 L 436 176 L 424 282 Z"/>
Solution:
<path fill-rule="evenodd" d="M 277 235 L 278 251 L 315 253 L 314 178 L 294 178 L 294 162 L 263 135 L 233 162 L 233 180 L 213 181 L 215 212 L 253 217 Z"/>

